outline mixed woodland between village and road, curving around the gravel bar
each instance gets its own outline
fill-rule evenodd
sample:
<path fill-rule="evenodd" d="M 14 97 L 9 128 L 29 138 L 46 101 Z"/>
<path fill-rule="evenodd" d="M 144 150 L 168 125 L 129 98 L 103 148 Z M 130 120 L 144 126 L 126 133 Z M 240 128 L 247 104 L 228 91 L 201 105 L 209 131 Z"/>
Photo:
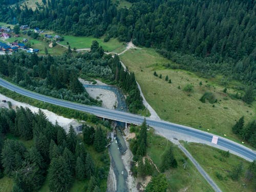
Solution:
<path fill-rule="evenodd" d="M 130 112 L 144 108 L 134 73 L 123 70 L 118 56 L 105 55 L 97 41 L 93 41 L 91 52 L 84 54 L 69 49 L 61 56 L 2 55 L 0 74 L 31 91 L 89 105 L 101 102 L 89 97 L 78 77 L 101 78 L 122 89 Z"/>

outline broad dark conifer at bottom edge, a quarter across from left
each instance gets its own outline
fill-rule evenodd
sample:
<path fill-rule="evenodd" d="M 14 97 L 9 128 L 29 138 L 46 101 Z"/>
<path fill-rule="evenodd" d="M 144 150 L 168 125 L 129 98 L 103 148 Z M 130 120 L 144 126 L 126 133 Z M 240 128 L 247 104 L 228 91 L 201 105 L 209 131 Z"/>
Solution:
<path fill-rule="evenodd" d="M 51 191 L 69 191 L 73 181 L 72 174 L 65 159 L 53 158 L 49 168 L 49 188 Z"/>

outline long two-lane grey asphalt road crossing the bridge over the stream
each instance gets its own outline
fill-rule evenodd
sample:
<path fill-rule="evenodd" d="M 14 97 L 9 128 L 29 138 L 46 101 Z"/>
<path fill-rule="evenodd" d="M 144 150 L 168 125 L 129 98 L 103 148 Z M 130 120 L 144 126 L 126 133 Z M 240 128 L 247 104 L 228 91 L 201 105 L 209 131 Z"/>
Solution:
<path fill-rule="evenodd" d="M 79 104 L 79 103 L 74 103 L 74 102 L 69 102 L 69 101 L 65 101 L 65 100 L 48 97 L 45 95 L 40 95 L 38 93 L 34 93 L 31 91 L 25 90 L 23 88 L 17 87 L 14 84 L 12 84 L 2 78 L 0 78 L 0 86 L 4 87 L 6 89 L 9 89 L 11 91 L 14 91 L 18 94 L 33 98 L 33 99 L 37 99 L 37 100 L 47 102 L 47 103 L 52 103 L 52 104 L 63 106 L 63 107 L 70 108 L 70 109 L 88 112 L 88 113 L 94 114 L 98 117 L 104 117 L 107 119 L 117 120 L 117 121 L 121 121 L 121 122 L 134 123 L 137 125 L 141 124 L 144 120 L 144 117 L 135 115 L 135 114 L 131 114 L 131 113 L 105 109 L 105 108 L 101 108 L 99 106 L 83 105 L 83 104 Z M 175 132 L 186 134 L 188 136 L 196 137 L 198 139 L 208 141 L 208 142 L 211 142 L 212 136 L 214 136 L 207 132 L 196 130 L 191 127 L 180 125 L 180 124 L 170 123 L 167 121 L 153 120 L 150 118 L 146 118 L 146 122 L 148 125 L 154 127 L 155 129 L 160 127 L 160 128 L 166 129 L 166 130 L 172 130 Z M 227 150 L 233 151 L 233 152 L 239 154 L 241 157 L 244 157 L 248 160 L 251 160 L 251 161 L 256 160 L 255 151 L 252 151 L 249 148 L 247 148 L 241 144 L 238 144 L 236 142 L 233 142 L 231 140 L 219 137 L 218 145 L 225 147 L 225 148 L 227 148 Z"/>

